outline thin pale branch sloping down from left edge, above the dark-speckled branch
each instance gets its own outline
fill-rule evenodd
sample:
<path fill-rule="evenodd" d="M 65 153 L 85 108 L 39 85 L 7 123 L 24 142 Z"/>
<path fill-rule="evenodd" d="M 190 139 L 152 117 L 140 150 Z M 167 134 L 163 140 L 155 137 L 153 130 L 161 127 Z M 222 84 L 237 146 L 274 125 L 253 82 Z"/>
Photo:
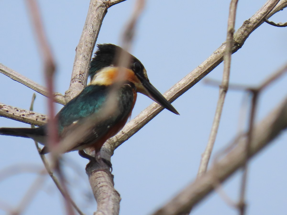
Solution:
<path fill-rule="evenodd" d="M 5 67 L 3 64 L 0 63 L 0 73 L 8 76 L 9 78 L 13 79 L 14 81 L 18 81 L 19 83 L 25 85 L 26 87 L 29 87 L 30 89 L 44 95 L 48 96 L 48 93 L 46 92 L 46 88 L 39 85 L 38 83 L 26 78 L 25 76 L 21 75 L 20 73 L 15 72 L 14 70 Z M 66 102 L 64 100 L 64 96 L 61 93 L 54 93 L 54 99 L 55 102 L 65 105 Z"/>

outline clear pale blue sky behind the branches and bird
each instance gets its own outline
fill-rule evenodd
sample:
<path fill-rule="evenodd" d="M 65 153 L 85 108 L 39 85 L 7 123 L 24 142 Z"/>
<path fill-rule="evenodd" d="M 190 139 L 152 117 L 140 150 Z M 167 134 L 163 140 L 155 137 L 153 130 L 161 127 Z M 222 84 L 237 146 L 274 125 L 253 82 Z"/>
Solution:
<path fill-rule="evenodd" d="M 97 43 L 121 44 L 120 35 L 131 15 L 135 1 L 127 0 L 108 9 Z M 235 29 L 249 19 L 264 0 L 238 2 Z M 88 11 L 89 1 L 39 1 L 40 9 L 57 63 L 56 91 L 69 87 L 71 70 Z M 0 63 L 44 85 L 42 61 L 31 28 L 25 1 L 1 1 Z M 131 53 L 145 66 L 151 83 L 162 93 L 181 80 L 226 39 L 229 1 L 147 1 Z M 285 16 L 284 16 L 285 14 Z M 286 11 L 271 18 L 286 21 Z M 287 29 L 261 25 L 232 55 L 230 83 L 257 86 L 286 63 Z M 221 80 L 220 64 L 206 78 Z M 259 122 L 286 96 L 286 75 L 262 93 L 256 121 Z M 33 91 L 0 74 L 0 102 L 28 109 Z M 181 114 L 164 110 L 127 142 L 112 157 L 115 188 L 121 194 L 122 215 L 150 214 L 197 174 L 201 153 L 208 141 L 218 99 L 218 88 L 202 81 L 179 97 L 172 105 Z M 240 112 L 244 92 L 228 91 L 214 153 L 227 146 L 244 127 Z M 132 118 L 152 100 L 139 95 Z M 60 110 L 61 105 L 57 105 Z M 46 99 L 37 94 L 34 111 L 46 114 Z M 241 118 L 240 118 L 241 117 Z M 244 119 L 246 117 L 243 117 Z M 243 120 L 244 120 L 243 119 Z M 0 118 L 0 127 L 29 125 Z M 247 183 L 247 214 L 283 214 L 286 196 L 287 135 L 282 133 L 273 144 L 250 163 Z M 0 136 L 1 170 L 15 171 L 42 167 L 34 142 Z M 65 172 L 72 196 L 86 214 L 96 210 L 91 198 L 87 163 L 76 152 L 64 155 Z M 16 168 L 18 167 L 18 168 Z M 224 191 L 238 200 L 240 172 L 226 183 Z M 0 181 L 0 203 L 16 207 L 37 175 L 24 171 Z M 88 198 L 90 196 L 90 198 Z M 0 204 L 0 205 L 1 205 Z M 48 177 L 24 214 L 63 214 L 63 200 Z M 6 214 L 0 210 L 0 214 Z M 238 214 L 218 196 L 210 194 L 193 214 Z"/>

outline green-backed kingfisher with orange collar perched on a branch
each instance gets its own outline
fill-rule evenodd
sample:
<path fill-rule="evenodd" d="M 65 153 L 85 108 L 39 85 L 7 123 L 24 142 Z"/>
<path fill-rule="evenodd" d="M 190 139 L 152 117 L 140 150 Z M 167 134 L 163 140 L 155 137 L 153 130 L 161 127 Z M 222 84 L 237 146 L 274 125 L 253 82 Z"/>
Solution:
<path fill-rule="evenodd" d="M 56 115 L 59 145 L 69 136 L 72 138 L 67 139 L 68 142 L 73 142 L 63 143 L 61 153 L 78 150 L 82 157 L 90 160 L 84 149 L 91 148 L 99 155 L 104 142 L 115 136 L 131 116 L 137 92 L 179 115 L 150 83 L 144 65 L 137 58 L 113 44 L 97 47 L 90 62 L 90 83 Z M 124 67 L 119 62 L 120 55 L 128 59 Z M 0 128 L 0 134 L 32 138 L 44 145 L 40 154 L 51 150 L 46 145 L 47 124 L 38 128 Z"/>

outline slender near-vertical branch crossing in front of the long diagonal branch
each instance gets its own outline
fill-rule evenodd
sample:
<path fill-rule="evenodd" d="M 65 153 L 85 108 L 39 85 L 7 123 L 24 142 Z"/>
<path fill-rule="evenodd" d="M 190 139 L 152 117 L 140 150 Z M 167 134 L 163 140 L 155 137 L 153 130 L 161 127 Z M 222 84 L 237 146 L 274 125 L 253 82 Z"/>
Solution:
<path fill-rule="evenodd" d="M 215 111 L 214 120 L 212 123 L 210 136 L 209 136 L 207 146 L 205 148 L 205 151 L 204 151 L 202 158 L 201 158 L 201 161 L 200 161 L 199 170 L 197 173 L 198 176 L 201 176 L 203 173 L 206 172 L 208 162 L 210 159 L 210 155 L 212 153 L 212 149 L 213 149 L 216 135 L 218 132 L 218 127 L 219 127 L 220 117 L 222 114 L 225 96 L 226 96 L 226 93 L 228 90 L 231 54 L 232 54 L 232 47 L 234 45 L 233 34 L 234 34 L 234 24 L 235 24 L 237 2 L 238 2 L 238 0 L 232 0 L 230 2 L 228 26 L 227 26 L 226 48 L 225 48 L 225 52 L 224 52 L 224 56 L 223 56 L 224 70 L 223 70 L 222 83 L 221 83 L 221 86 L 219 89 L 219 99 L 217 102 L 217 107 L 216 107 L 216 111 Z"/>

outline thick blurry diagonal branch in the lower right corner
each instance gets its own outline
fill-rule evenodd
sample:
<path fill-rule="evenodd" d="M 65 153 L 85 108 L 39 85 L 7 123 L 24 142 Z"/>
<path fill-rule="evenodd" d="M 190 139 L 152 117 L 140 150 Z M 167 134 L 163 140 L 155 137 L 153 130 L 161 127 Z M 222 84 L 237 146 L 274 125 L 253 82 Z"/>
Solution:
<path fill-rule="evenodd" d="M 249 148 L 250 158 L 270 144 L 286 128 L 287 98 L 254 128 Z M 234 139 L 236 142 L 232 144 L 236 144 L 236 146 L 228 154 L 153 215 L 181 214 L 190 210 L 208 193 L 213 191 L 218 182 L 223 182 L 241 168 L 246 158 L 246 134 L 238 135 Z"/>

